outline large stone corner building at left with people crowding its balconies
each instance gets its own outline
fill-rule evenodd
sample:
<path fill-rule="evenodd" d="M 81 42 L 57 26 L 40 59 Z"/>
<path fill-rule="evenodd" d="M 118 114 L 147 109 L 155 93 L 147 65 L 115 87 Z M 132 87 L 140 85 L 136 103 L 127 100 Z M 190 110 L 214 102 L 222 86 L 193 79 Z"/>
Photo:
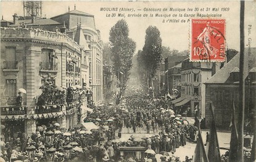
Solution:
<path fill-rule="evenodd" d="M 0 103 L 5 131 L 10 136 L 17 131 L 31 135 L 38 125 L 77 125 L 86 107 L 81 76 L 85 56 L 85 48 L 64 33 L 25 26 L 1 28 Z M 20 88 L 26 90 L 22 99 L 17 96 Z"/>

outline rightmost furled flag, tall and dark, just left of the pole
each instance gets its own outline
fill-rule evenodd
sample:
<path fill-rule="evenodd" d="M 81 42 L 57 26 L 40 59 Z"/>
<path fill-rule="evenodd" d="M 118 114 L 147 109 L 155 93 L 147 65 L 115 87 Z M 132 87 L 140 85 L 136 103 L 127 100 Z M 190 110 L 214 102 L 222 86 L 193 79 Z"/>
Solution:
<path fill-rule="evenodd" d="M 234 101 L 233 101 L 233 111 L 231 115 L 231 139 L 230 139 L 230 146 L 229 146 L 229 159 L 228 161 L 237 161 L 237 144 L 238 144 L 238 136 L 237 136 L 237 129 L 236 129 L 236 122 L 235 122 L 235 109 L 234 109 Z"/>

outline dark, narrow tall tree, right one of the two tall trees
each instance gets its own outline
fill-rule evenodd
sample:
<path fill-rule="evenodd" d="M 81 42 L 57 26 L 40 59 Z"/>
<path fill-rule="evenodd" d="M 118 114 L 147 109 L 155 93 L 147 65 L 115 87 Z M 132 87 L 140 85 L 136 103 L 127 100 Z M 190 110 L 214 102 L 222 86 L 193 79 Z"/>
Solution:
<path fill-rule="evenodd" d="M 152 78 L 155 76 L 157 69 L 159 69 L 160 61 L 162 60 L 162 39 L 160 31 L 155 26 L 149 26 L 146 29 L 145 44 L 142 50 L 142 58 L 146 66 L 146 76 L 150 95 L 154 96 Z"/>

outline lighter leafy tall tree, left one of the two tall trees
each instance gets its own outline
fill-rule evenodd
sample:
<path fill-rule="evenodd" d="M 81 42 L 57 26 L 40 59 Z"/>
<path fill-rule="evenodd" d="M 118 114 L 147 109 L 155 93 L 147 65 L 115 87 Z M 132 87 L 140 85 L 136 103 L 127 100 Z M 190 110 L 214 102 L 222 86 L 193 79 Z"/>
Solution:
<path fill-rule="evenodd" d="M 123 85 L 126 84 L 130 76 L 132 67 L 132 57 L 135 52 L 136 44 L 130 39 L 128 25 L 125 20 L 118 20 L 112 26 L 109 33 L 110 51 L 114 63 L 114 71 L 120 79 L 123 77 Z"/>

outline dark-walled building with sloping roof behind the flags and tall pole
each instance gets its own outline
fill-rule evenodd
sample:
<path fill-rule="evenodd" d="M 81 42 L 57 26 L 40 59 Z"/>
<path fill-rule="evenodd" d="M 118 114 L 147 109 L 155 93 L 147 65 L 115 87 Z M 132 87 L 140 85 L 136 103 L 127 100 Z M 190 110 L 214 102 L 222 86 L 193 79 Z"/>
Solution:
<path fill-rule="evenodd" d="M 248 54 L 250 53 L 250 55 Z M 246 48 L 244 52 L 245 60 L 245 118 L 247 131 L 252 130 L 248 127 L 256 106 L 256 48 Z M 210 103 L 214 107 L 215 123 L 218 128 L 227 129 L 231 121 L 233 102 L 236 109 L 236 115 L 239 114 L 239 53 L 234 56 L 220 71 L 209 78 L 204 85 L 206 101 L 206 126 L 210 126 L 212 114 L 210 112 Z M 254 112 L 255 113 L 255 112 Z M 254 114 L 255 115 L 255 114 Z M 237 117 L 236 117 L 237 119 Z"/>

